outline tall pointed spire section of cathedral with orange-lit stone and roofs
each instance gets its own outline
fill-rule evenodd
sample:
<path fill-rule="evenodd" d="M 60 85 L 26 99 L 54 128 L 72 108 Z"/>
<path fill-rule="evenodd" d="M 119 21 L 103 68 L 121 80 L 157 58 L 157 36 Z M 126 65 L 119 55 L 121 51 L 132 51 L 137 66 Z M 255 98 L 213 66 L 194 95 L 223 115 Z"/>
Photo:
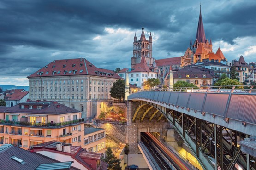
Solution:
<path fill-rule="evenodd" d="M 194 44 L 192 44 L 192 40 L 190 40 L 190 46 L 187 48 L 184 56 L 181 57 L 181 67 L 188 66 L 196 62 L 202 62 L 204 59 L 208 59 L 211 62 L 225 61 L 226 58 L 220 50 L 220 47 L 216 53 L 213 52 L 212 47 L 212 40 L 209 41 L 205 37 L 200 6 L 196 40 Z"/>

